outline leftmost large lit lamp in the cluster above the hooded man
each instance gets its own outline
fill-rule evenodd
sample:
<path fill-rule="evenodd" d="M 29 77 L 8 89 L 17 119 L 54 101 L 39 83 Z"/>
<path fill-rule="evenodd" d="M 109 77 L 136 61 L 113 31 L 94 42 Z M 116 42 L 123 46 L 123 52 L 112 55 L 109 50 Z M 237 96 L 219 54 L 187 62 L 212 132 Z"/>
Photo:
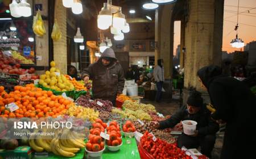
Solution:
<path fill-rule="evenodd" d="M 106 30 L 111 26 L 112 12 L 108 9 L 108 3 L 104 3 L 104 7 L 98 15 L 97 24 L 100 30 Z"/>

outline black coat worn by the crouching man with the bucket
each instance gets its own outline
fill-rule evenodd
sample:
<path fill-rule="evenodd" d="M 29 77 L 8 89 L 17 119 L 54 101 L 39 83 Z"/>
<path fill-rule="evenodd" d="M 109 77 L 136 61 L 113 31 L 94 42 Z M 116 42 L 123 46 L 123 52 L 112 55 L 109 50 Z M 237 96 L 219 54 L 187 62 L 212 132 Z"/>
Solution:
<path fill-rule="evenodd" d="M 219 125 L 210 119 L 210 112 L 205 106 L 196 114 L 189 114 L 187 106 L 181 107 L 171 118 L 159 122 L 160 129 L 173 128 L 181 120 L 196 121 L 196 129 L 199 131 L 199 136 L 214 135 L 219 129 Z"/>

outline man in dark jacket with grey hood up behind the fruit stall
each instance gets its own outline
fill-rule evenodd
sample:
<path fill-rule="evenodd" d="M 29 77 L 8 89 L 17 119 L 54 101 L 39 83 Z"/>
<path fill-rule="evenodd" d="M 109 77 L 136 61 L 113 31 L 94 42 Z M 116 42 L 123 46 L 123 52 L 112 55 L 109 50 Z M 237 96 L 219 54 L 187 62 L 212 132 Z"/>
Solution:
<path fill-rule="evenodd" d="M 82 79 L 91 79 L 94 99 L 108 100 L 115 105 L 117 94 L 121 94 L 125 77 L 121 64 L 115 58 L 113 49 L 107 48 L 101 58 L 82 71 Z"/>

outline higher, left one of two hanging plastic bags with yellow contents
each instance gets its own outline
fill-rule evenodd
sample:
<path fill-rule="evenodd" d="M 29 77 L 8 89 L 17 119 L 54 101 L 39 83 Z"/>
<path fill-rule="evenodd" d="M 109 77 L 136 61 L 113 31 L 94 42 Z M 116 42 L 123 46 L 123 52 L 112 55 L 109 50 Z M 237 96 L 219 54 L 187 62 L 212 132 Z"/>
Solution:
<path fill-rule="evenodd" d="M 46 28 L 44 27 L 44 21 L 40 14 L 40 10 L 38 10 L 36 16 L 34 16 L 32 28 L 36 36 L 44 36 L 44 34 L 46 34 Z"/>

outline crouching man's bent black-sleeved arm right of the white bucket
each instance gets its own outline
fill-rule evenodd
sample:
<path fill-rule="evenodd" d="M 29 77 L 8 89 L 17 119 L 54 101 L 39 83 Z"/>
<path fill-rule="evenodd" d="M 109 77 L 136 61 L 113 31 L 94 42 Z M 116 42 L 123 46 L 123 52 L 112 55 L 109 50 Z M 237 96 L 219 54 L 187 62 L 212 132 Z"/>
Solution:
<path fill-rule="evenodd" d="M 208 120 L 207 127 L 201 127 L 197 130 L 199 136 L 205 136 L 205 135 L 210 135 L 210 134 L 214 135 L 216 132 L 218 132 L 218 129 L 220 129 L 218 123 L 216 123 L 215 121 L 213 121 L 210 118 L 210 114 L 209 114 L 209 118 L 207 120 Z"/>

